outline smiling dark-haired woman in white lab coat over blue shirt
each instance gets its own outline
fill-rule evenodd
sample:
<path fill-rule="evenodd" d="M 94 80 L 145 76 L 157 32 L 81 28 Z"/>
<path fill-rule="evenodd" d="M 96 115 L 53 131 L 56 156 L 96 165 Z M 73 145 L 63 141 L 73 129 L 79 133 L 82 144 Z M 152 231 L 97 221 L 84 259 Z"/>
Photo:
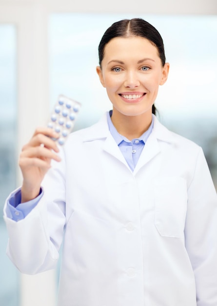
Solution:
<path fill-rule="evenodd" d="M 114 23 L 97 67 L 113 110 L 61 150 L 46 128 L 23 147 L 8 255 L 52 269 L 64 234 L 59 306 L 217 305 L 217 194 L 201 148 L 154 115 L 168 72 L 151 24 Z"/>

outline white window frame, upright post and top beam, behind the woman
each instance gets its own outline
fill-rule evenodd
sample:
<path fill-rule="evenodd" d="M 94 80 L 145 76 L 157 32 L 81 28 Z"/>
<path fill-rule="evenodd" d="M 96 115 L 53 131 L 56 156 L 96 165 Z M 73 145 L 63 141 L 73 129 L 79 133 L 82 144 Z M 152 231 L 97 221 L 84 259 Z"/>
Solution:
<path fill-rule="evenodd" d="M 0 23 L 14 23 L 18 32 L 19 152 L 49 110 L 47 25 L 53 12 L 215 15 L 217 0 L 0 0 Z M 20 292 L 20 306 L 55 306 L 55 272 L 22 275 Z"/>

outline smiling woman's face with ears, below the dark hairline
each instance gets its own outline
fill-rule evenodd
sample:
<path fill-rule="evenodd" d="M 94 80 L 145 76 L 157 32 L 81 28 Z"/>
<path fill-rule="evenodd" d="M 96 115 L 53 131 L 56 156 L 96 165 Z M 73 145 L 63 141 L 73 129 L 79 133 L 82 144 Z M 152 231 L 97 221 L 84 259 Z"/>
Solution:
<path fill-rule="evenodd" d="M 99 79 L 113 104 L 113 114 L 152 114 L 152 105 L 168 76 L 158 49 L 142 37 L 117 37 L 105 46 Z"/>

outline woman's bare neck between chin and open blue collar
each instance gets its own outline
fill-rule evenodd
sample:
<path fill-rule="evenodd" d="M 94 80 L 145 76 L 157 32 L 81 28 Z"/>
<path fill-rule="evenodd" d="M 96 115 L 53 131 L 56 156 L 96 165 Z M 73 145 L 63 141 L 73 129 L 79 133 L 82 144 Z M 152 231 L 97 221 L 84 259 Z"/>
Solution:
<path fill-rule="evenodd" d="M 131 141 L 139 138 L 148 130 L 152 123 L 152 113 L 145 112 L 137 116 L 126 116 L 113 109 L 111 119 L 118 133 Z"/>

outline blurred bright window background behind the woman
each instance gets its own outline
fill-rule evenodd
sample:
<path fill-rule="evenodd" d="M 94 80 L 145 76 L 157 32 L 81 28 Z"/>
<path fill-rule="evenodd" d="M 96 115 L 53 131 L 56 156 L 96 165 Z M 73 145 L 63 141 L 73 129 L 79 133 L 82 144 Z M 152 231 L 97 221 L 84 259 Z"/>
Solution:
<path fill-rule="evenodd" d="M 75 129 L 111 109 L 96 73 L 98 44 L 123 18 L 143 18 L 160 32 L 171 68 L 156 100 L 159 120 L 203 148 L 217 188 L 217 2 L 148 2 L 135 0 L 132 8 L 130 1 L 123 7 L 114 0 L 103 5 L 98 0 L 0 0 L 1 211 L 21 183 L 21 147 L 46 124 L 60 93 L 82 104 Z M 0 305 L 55 306 L 59 269 L 21 275 L 5 255 L 6 244 L 1 218 Z"/>

